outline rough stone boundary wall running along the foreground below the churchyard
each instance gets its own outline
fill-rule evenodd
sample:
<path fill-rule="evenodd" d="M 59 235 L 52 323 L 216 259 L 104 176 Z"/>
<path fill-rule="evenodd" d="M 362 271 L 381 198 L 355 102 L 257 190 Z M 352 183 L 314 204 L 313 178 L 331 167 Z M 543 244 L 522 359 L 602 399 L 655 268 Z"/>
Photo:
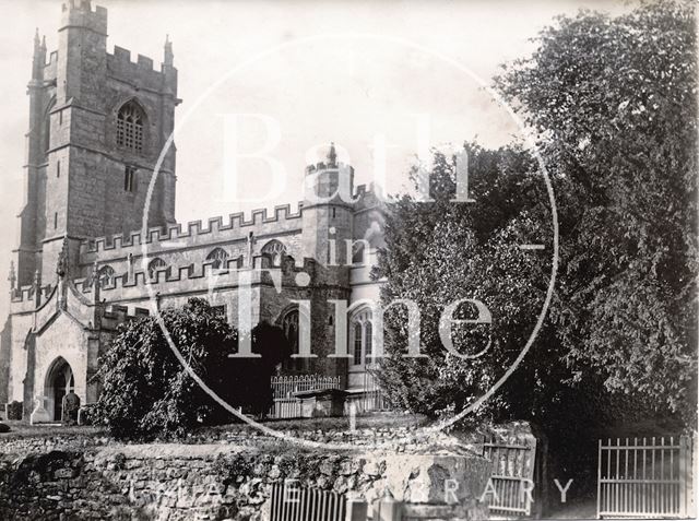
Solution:
<path fill-rule="evenodd" d="M 476 455 L 304 451 L 283 442 L 68 448 L 79 438 L 63 450 L 50 449 L 56 439 L 0 446 L 0 519 L 258 521 L 268 519 L 272 485 L 288 478 L 368 501 L 390 490 L 417 506 L 445 505 L 445 481 L 453 478 L 459 505 L 472 519 L 487 518 L 478 498 L 490 465 Z"/>

